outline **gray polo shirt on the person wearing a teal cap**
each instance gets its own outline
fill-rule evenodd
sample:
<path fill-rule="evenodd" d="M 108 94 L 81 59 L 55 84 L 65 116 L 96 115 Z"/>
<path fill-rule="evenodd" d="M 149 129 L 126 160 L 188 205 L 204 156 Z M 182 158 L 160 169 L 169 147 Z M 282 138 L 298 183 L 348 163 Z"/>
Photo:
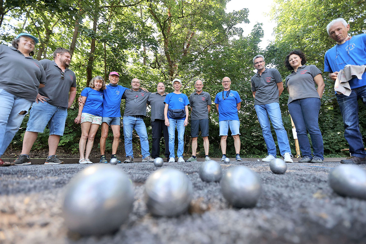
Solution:
<path fill-rule="evenodd" d="M 25 57 L 13 46 L 0 45 L 0 89 L 36 101 L 38 86 L 46 84 L 45 71 L 37 59 Z"/>

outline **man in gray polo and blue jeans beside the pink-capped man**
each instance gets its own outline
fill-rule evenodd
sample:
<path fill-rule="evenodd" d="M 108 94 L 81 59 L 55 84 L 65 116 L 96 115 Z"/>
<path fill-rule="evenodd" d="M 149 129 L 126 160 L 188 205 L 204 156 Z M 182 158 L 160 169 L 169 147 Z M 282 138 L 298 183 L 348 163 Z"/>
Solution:
<path fill-rule="evenodd" d="M 143 118 L 146 116 L 146 103 L 150 92 L 146 92 L 140 87 L 140 80 L 132 79 L 131 89 L 124 91 L 122 99 L 126 100 L 126 108 L 123 114 L 123 134 L 126 160 L 124 163 L 134 162 L 134 152 L 132 150 L 132 131 L 135 129 L 140 138 L 142 162 L 154 162 L 149 153 L 149 141 L 147 140 L 146 125 Z"/>

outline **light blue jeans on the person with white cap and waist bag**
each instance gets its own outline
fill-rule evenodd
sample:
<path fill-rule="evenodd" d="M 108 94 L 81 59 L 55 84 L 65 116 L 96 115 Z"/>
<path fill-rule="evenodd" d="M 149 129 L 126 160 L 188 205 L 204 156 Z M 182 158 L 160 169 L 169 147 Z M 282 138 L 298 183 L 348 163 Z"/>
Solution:
<path fill-rule="evenodd" d="M 175 158 L 174 154 L 174 141 L 175 141 L 175 127 L 178 131 L 178 149 L 177 149 L 177 156 L 183 158 L 183 148 L 184 148 L 184 130 L 186 127 L 183 125 L 184 120 L 175 120 L 169 118 L 169 126 L 168 126 L 168 133 L 169 133 L 169 158 Z"/>

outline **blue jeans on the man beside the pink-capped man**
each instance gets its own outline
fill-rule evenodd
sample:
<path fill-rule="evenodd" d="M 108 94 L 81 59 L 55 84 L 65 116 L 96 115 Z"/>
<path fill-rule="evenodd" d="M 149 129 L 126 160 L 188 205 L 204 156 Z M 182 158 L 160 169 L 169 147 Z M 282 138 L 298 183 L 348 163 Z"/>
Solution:
<path fill-rule="evenodd" d="M 140 138 L 142 158 L 150 156 L 146 125 L 143 119 L 135 116 L 123 116 L 124 150 L 126 151 L 126 157 L 134 157 L 134 151 L 132 150 L 133 129 L 135 129 Z"/>

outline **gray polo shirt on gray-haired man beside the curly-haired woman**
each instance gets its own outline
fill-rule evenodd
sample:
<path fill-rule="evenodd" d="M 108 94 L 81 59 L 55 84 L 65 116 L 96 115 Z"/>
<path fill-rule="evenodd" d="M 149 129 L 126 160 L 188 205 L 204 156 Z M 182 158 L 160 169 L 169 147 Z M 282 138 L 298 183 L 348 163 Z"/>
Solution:
<path fill-rule="evenodd" d="M 250 78 L 252 91 L 255 91 L 254 105 L 279 102 L 277 83 L 282 82 L 280 72 L 275 68 L 265 68 L 261 75 L 253 75 Z"/>

